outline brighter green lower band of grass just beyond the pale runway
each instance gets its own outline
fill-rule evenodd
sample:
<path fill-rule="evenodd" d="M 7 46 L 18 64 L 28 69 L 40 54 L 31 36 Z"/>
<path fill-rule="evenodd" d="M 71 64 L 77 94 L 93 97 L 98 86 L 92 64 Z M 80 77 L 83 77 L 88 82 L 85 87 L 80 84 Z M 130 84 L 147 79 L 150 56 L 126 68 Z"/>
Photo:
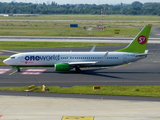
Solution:
<path fill-rule="evenodd" d="M 115 30 L 119 29 L 119 34 Z M 1 36 L 66 36 L 66 37 L 133 37 L 139 32 L 138 28 L 107 28 L 105 31 L 86 31 L 83 28 L 65 28 L 65 29 L 1 29 Z"/>

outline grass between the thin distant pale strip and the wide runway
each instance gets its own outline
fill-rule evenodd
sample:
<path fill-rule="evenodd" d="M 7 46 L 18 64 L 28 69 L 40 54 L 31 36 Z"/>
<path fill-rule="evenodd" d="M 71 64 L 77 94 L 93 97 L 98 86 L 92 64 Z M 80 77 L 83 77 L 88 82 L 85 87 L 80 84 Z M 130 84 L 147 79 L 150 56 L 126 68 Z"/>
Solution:
<path fill-rule="evenodd" d="M 138 28 L 106 26 L 105 30 L 99 30 L 95 24 L 78 23 L 78 28 L 70 28 L 66 22 L 0 22 L 1 36 L 68 36 L 68 37 L 133 37 L 139 32 Z M 84 29 L 86 27 L 86 29 Z M 93 29 L 88 31 L 87 29 Z M 119 34 L 115 30 L 119 29 Z"/>

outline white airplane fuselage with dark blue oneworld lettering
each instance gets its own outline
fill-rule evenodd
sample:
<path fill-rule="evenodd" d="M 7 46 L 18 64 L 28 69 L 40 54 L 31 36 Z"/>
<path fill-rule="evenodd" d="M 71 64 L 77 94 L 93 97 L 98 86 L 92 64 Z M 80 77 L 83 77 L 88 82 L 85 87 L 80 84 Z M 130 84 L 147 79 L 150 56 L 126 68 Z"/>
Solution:
<path fill-rule="evenodd" d="M 57 63 L 96 62 L 102 59 L 106 52 L 28 52 L 12 55 L 4 63 L 12 66 L 54 66 Z M 135 56 L 137 53 L 108 52 L 105 61 L 95 64 L 80 64 L 85 66 L 114 66 L 134 62 L 145 56 Z"/>

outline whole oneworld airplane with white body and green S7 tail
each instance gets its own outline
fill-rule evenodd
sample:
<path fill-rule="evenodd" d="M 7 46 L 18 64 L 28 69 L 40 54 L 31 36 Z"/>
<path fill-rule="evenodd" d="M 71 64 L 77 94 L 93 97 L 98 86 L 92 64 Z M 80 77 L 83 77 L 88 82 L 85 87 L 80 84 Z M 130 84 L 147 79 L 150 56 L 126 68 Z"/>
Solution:
<path fill-rule="evenodd" d="M 95 52 L 95 46 L 89 52 L 26 52 L 18 53 L 3 62 L 16 68 L 54 67 L 55 71 L 80 72 L 84 67 L 107 67 L 128 64 L 146 58 L 148 38 L 152 25 L 146 25 L 125 48 L 113 52 Z"/>

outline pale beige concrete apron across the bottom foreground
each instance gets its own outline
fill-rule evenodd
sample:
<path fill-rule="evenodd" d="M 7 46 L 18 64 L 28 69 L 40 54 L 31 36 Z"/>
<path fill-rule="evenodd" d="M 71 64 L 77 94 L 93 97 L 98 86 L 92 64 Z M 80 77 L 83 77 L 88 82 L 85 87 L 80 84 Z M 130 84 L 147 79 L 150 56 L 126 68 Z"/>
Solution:
<path fill-rule="evenodd" d="M 62 120 L 64 116 L 93 117 L 94 120 L 155 120 L 160 119 L 160 102 L 0 96 L 0 120 Z"/>

